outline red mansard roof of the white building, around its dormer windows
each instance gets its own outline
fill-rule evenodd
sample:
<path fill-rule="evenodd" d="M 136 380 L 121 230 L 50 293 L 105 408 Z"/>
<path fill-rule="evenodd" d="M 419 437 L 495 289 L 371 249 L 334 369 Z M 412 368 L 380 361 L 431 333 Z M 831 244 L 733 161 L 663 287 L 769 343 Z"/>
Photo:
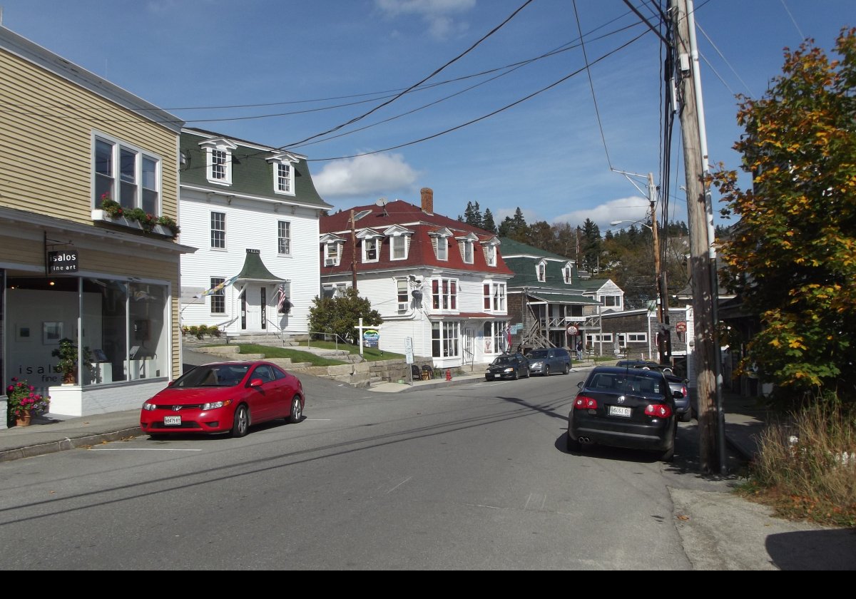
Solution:
<path fill-rule="evenodd" d="M 369 272 L 372 270 L 389 270 L 390 268 L 430 266 L 450 270 L 471 270 L 473 272 L 490 273 L 497 275 L 514 275 L 511 269 L 502 260 L 502 246 L 497 246 L 496 266 L 488 266 L 482 251 L 482 241 L 497 238 L 495 234 L 488 233 L 480 228 L 468 225 L 449 216 L 429 214 L 422 211 L 419 206 L 407 204 L 407 202 L 396 199 L 381 207 L 378 205 L 354 206 L 353 209 L 336 212 L 330 216 L 321 216 L 319 227 L 322 235 L 336 234 L 345 240 L 342 247 L 342 256 L 337 266 L 324 265 L 324 252 L 321 252 L 321 274 L 335 275 L 338 273 L 351 272 L 351 258 L 354 244 L 351 243 L 351 211 L 354 216 L 360 212 L 367 211 L 354 225 L 356 234 L 365 229 L 372 229 L 383 234 L 387 228 L 398 225 L 413 231 L 410 240 L 410 249 L 407 252 L 407 260 L 389 259 L 389 237 L 380 238 L 378 245 L 377 262 L 364 263 L 362 261 L 362 241 L 357 240 L 357 272 Z M 431 233 L 442 228 L 449 228 L 452 237 L 449 238 L 448 260 L 438 260 L 434 254 L 434 246 L 431 242 Z M 464 264 L 461 252 L 458 250 L 456 237 L 467 234 L 475 234 L 478 240 L 473 240 L 473 264 Z M 498 238 L 497 238 L 498 240 Z"/>

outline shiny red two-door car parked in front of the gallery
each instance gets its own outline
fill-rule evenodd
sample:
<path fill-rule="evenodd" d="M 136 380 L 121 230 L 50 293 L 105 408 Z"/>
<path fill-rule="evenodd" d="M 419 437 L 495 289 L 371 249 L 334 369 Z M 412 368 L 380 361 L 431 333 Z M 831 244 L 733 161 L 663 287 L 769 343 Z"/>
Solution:
<path fill-rule="evenodd" d="M 150 436 L 225 433 L 245 436 L 251 424 L 300 422 L 306 396 L 300 379 L 265 361 L 218 362 L 185 372 L 143 404 L 140 428 Z"/>

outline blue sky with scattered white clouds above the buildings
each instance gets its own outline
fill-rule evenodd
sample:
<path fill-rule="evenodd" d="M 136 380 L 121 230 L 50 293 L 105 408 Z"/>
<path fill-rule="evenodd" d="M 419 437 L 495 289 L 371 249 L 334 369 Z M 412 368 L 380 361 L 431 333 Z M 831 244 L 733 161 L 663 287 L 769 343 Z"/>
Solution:
<path fill-rule="evenodd" d="M 630 2 L 655 21 L 648 0 Z M 644 179 L 615 171 L 652 172 L 660 183 L 662 50 L 622 0 L 0 7 L 4 27 L 188 126 L 305 155 L 334 210 L 379 198 L 419 204 L 419 189 L 431 187 L 435 211 L 448 216 L 478 202 L 497 224 L 520 207 L 527 222 L 591 218 L 603 232 L 644 217 L 648 205 L 632 182 L 644 190 Z M 856 1 L 696 0 L 695 8 L 710 163 L 738 169 L 734 94 L 761 97 L 782 72 L 785 46 L 813 38 L 829 50 L 841 27 L 856 26 Z M 590 63 L 605 56 L 591 82 L 584 54 Z M 686 222 L 679 148 L 676 129 L 669 220 Z"/>

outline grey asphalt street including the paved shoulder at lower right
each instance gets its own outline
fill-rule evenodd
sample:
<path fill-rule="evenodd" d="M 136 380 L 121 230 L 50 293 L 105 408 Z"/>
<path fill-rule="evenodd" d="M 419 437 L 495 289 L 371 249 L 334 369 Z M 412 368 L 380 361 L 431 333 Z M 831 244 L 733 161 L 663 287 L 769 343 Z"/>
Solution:
<path fill-rule="evenodd" d="M 306 419 L 0 464 L 0 563 L 68 570 L 847 569 L 851 531 L 770 519 L 675 462 L 564 451 L 577 377 L 377 394 Z M 815 549 L 806 554 L 806 548 Z M 819 549 L 818 549 L 819 548 Z M 842 549 L 843 548 L 843 549 Z M 808 556 L 807 556 L 808 555 Z M 837 557 L 836 557 L 837 555 Z"/>

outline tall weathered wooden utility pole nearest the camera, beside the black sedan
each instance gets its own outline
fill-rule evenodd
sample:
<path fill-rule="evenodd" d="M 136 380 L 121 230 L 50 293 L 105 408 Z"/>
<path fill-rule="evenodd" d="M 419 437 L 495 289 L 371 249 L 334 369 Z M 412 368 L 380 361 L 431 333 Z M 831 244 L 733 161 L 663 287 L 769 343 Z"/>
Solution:
<path fill-rule="evenodd" d="M 669 11 L 675 23 L 675 66 L 680 78 L 681 137 L 684 147 L 684 172 L 687 176 L 687 216 L 690 232 L 690 264 L 693 277 L 693 365 L 698 397 L 698 458 L 703 471 L 720 471 L 721 452 L 716 451 L 717 431 L 721 418 L 716 408 L 716 323 L 711 287 L 710 244 L 706 222 L 704 193 L 704 160 L 698 125 L 696 85 L 693 80 L 690 28 L 687 0 L 669 0 Z M 692 383 L 691 383 L 692 386 Z"/>

